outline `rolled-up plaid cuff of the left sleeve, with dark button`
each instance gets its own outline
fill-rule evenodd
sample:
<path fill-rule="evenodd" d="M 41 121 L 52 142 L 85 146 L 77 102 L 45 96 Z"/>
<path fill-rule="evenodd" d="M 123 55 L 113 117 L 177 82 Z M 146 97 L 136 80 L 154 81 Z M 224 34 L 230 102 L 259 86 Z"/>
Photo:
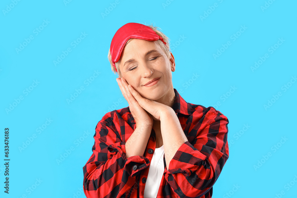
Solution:
<path fill-rule="evenodd" d="M 116 142 L 112 145 L 107 147 L 108 151 L 111 153 L 118 153 L 124 159 L 124 169 L 131 172 L 131 177 L 138 175 L 141 170 L 149 167 L 150 161 L 145 156 L 130 156 L 126 157 L 126 149 L 125 149 L 126 142 Z"/>

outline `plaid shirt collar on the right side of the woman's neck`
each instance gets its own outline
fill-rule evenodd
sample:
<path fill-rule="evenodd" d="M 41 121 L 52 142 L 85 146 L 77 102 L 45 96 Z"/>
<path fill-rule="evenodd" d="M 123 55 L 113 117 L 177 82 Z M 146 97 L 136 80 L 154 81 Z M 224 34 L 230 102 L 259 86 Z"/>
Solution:
<path fill-rule="evenodd" d="M 192 115 L 192 113 L 195 112 L 195 108 L 193 108 L 192 105 L 187 103 L 175 88 L 173 88 L 173 90 L 175 93 L 175 99 L 172 106 L 174 112 L 181 113 L 184 115 Z"/>

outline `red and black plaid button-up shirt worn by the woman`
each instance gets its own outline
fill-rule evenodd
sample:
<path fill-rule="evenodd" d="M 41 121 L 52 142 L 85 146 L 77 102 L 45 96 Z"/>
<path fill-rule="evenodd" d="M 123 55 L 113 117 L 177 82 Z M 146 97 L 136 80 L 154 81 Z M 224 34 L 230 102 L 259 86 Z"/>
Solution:
<path fill-rule="evenodd" d="M 188 141 L 178 148 L 169 163 L 170 169 L 163 156 L 165 170 L 157 198 L 210 198 L 212 186 L 229 157 L 229 121 L 213 107 L 187 103 L 176 89 L 174 92 L 172 108 Z M 125 143 L 135 126 L 129 107 L 106 113 L 98 122 L 93 154 L 83 167 L 87 198 L 143 198 L 156 134 L 152 129 L 144 156 L 126 158 Z"/>

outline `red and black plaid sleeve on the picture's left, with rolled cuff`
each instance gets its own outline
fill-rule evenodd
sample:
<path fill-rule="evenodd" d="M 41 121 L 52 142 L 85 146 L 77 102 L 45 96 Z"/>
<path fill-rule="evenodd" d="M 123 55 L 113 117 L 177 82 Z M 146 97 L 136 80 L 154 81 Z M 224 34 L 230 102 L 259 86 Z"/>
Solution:
<path fill-rule="evenodd" d="M 119 198 L 137 190 L 136 175 L 149 166 L 144 156 L 126 158 L 125 143 L 114 124 L 99 122 L 93 154 L 83 167 L 83 190 L 87 198 Z M 133 188 L 132 188 L 133 187 Z"/>

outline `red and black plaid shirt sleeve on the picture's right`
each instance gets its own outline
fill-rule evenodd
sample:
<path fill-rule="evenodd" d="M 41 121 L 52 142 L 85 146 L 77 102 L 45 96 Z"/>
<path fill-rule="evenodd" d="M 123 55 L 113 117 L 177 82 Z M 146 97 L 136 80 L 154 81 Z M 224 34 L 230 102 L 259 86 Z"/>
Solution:
<path fill-rule="evenodd" d="M 201 119 L 193 116 L 188 135 L 197 135 L 192 144 L 184 142 L 165 168 L 165 179 L 178 197 L 201 197 L 210 191 L 229 157 L 229 121 L 213 107 L 206 110 Z"/>

